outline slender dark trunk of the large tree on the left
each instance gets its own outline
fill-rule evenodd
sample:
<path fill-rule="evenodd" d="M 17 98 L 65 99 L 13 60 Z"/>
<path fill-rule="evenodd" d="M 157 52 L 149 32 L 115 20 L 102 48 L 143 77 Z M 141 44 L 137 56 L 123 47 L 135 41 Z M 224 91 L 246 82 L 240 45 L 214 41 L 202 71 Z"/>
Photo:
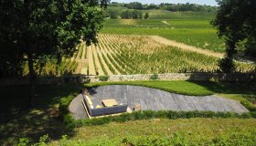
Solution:
<path fill-rule="evenodd" d="M 29 88 L 30 88 L 28 108 L 32 108 L 32 106 L 34 104 L 35 93 L 36 93 L 37 77 L 36 77 L 35 70 L 34 70 L 34 60 L 32 58 L 32 55 L 28 55 L 27 58 L 28 58 Z"/>

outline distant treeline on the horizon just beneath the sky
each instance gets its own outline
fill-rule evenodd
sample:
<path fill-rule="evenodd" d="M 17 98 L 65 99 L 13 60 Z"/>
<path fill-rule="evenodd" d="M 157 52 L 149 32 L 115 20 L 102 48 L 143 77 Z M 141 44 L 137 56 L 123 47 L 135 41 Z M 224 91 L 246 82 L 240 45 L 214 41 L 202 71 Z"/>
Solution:
<path fill-rule="evenodd" d="M 123 3 L 116 3 L 112 2 L 110 6 L 121 6 L 126 7 L 128 9 L 135 9 L 135 10 L 150 10 L 150 9 L 162 9 L 168 11 L 217 11 L 218 6 L 210 6 L 210 5 L 197 5 L 197 4 L 168 4 L 168 3 L 161 3 L 160 5 L 150 4 L 150 5 L 143 5 L 139 2 L 132 2 L 129 4 Z"/>

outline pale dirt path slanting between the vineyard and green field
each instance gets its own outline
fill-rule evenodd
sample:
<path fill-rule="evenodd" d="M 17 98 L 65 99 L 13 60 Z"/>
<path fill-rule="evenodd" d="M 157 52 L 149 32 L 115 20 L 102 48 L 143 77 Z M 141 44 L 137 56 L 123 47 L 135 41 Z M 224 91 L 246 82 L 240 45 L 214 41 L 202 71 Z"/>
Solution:
<path fill-rule="evenodd" d="M 216 52 L 212 52 L 210 50 L 202 49 L 202 48 L 199 48 L 199 47 L 188 46 L 188 45 L 183 44 L 183 43 L 178 43 L 176 41 L 169 40 L 169 39 L 167 39 L 165 37 L 162 37 L 162 36 L 150 36 L 150 37 L 153 38 L 155 41 L 157 41 L 159 43 L 162 43 L 162 44 L 165 44 L 167 46 L 179 47 L 179 48 L 182 48 L 182 49 L 186 49 L 186 50 L 189 50 L 189 51 L 193 51 L 193 52 L 197 52 L 197 53 L 200 53 L 200 54 L 208 55 L 208 56 L 211 56 L 211 57 L 219 57 L 219 58 L 224 57 L 223 53 L 216 53 Z"/>

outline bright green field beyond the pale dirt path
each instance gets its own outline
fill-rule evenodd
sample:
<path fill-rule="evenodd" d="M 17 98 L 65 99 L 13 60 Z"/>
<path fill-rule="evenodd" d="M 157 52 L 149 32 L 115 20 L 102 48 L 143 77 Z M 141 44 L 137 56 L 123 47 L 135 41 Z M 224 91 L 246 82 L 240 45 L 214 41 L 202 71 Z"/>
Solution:
<path fill-rule="evenodd" d="M 149 11 L 150 19 L 107 19 L 101 33 L 157 35 L 187 45 L 224 52 L 224 41 L 209 22 L 215 14 L 198 12 Z M 166 21 L 168 24 L 163 23 Z"/>

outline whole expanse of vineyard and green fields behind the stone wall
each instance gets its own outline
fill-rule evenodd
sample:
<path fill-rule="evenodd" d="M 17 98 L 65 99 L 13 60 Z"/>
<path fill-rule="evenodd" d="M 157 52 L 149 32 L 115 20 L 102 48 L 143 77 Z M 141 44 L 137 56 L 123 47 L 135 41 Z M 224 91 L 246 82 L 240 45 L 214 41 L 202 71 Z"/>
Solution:
<path fill-rule="evenodd" d="M 225 46 L 216 29 L 209 24 L 214 13 L 145 12 L 150 14 L 150 19 L 106 19 L 98 36 L 98 44 L 86 47 L 82 42 L 73 57 L 63 57 L 58 72 L 55 71 L 57 60 L 49 59 L 46 66 L 37 71 L 39 76 L 220 71 L 219 57 L 224 56 Z M 155 36 L 176 41 L 181 46 L 195 47 L 199 51 L 165 44 L 165 40 L 155 40 Z M 236 62 L 236 72 L 255 72 L 255 68 L 255 63 Z M 28 68 L 24 72 L 27 75 Z"/>

